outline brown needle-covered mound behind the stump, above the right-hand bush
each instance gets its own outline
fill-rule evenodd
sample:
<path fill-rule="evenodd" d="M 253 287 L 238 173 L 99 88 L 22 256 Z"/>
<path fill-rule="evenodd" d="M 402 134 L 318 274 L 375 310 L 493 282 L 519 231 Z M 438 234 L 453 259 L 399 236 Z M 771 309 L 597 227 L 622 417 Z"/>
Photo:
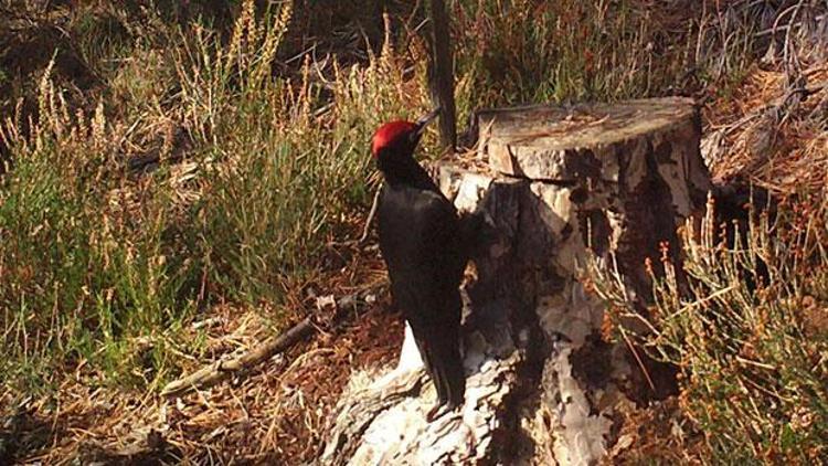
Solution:
<path fill-rule="evenodd" d="M 707 107 L 708 138 L 718 142 L 708 163 L 719 182 L 743 179 L 779 194 L 828 186 L 828 64 L 808 66 L 803 77 L 808 95 L 794 103 L 784 71 L 754 67 L 731 96 Z"/>

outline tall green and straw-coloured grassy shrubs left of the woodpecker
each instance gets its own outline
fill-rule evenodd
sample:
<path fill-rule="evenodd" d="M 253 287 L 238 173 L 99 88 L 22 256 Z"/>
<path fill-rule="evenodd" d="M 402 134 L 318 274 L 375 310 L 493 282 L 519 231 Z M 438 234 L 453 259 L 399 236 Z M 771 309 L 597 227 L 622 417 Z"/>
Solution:
<path fill-rule="evenodd" d="M 32 125 L 2 126 L 14 160 L 0 178 L 7 383 L 36 390 L 51 369 L 86 367 L 157 386 L 180 371 L 170 348 L 199 351 L 180 330 L 206 305 L 276 309 L 276 330 L 295 317 L 285 290 L 319 272 L 332 232 L 371 197 L 373 128 L 424 112 L 425 96 L 403 86 L 390 43 L 332 83 L 309 62 L 274 75 L 290 7 L 256 19 L 253 4 L 229 41 L 156 24 L 91 116 L 50 66 Z"/>

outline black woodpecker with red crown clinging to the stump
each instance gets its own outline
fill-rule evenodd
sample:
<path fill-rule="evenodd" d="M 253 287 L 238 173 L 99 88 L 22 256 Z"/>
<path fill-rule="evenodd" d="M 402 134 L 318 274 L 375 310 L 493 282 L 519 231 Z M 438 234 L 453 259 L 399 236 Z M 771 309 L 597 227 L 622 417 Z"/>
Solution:
<path fill-rule="evenodd" d="M 423 131 L 438 112 L 416 121 L 386 123 L 371 144 L 384 178 L 376 221 L 392 299 L 437 391 L 437 403 L 426 415 L 429 422 L 461 406 L 466 391 L 459 285 L 468 248 L 461 215 L 414 159 Z"/>

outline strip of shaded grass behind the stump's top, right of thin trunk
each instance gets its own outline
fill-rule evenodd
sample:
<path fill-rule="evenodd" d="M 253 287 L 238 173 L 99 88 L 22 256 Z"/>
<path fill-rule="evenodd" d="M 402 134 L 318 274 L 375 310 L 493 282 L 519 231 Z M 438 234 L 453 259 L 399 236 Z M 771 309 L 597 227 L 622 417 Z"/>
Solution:
<path fill-rule="evenodd" d="M 720 13 L 633 0 L 457 0 L 458 100 L 470 105 L 460 113 L 692 92 L 752 60 L 754 13 Z"/>

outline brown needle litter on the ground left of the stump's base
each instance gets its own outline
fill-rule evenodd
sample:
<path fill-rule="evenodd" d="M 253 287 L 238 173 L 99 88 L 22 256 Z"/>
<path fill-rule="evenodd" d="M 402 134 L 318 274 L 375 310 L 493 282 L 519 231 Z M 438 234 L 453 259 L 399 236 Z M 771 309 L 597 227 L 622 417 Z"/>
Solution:
<path fill-rule="evenodd" d="M 357 275 L 330 274 L 315 286 L 342 296 L 357 285 L 383 279 L 372 252 L 355 254 L 347 267 Z M 205 325 L 189 326 L 184 332 L 201 339 L 201 358 L 182 352 L 183 348 L 168 349 L 181 358 L 185 370 L 250 350 L 273 332 L 266 314 L 240 314 L 231 306 L 213 307 L 198 322 Z M 391 363 L 402 333 L 399 316 L 389 313 L 383 299 L 336 335 L 321 335 L 251 373 L 174 399 L 145 390 L 93 388 L 89 381 L 100 374 L 81 366 L 52 396 L 26 401 L 7 388 L 0 400 L 8 422 L 0 432 L 8 436 L 0 438 L 21 449 L 17 455 L 11 452 L 18 459 L 44 464 L 310 459 L 351 371 Z"/>

